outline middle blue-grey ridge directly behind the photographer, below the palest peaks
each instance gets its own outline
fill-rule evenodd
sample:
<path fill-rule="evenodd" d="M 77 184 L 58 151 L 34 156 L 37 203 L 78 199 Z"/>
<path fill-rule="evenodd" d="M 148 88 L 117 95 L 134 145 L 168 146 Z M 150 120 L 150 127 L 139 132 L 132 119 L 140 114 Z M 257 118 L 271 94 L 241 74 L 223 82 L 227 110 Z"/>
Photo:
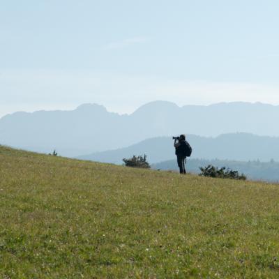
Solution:
<path fill-rule="evenodd" d="M 193 147 L 191 158 L 211 160 L 279 160 L 279 137 L 263 137 L 248 133 L 225 134 L 218 137 L 187 135 Z M 144 140 L 123 149 L 92 153 L 78 158 L 103 163 L 121 164 L 123 158 L 133 155 L 148 156 L 149 163 L 158 163 L 175 158 L 172 137 L 157 137 Z"/>

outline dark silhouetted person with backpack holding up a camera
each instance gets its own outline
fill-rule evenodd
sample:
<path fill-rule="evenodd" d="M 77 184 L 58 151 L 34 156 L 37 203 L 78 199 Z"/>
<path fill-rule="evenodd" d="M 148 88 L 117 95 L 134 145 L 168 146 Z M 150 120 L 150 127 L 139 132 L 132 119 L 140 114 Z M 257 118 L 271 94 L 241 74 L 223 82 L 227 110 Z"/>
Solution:
<path fill-rule="evenodd" d="M 177 156 L 177 165 L 179 166 L 179 172 L 186 174 L 186 157 L 192 153 L 190 144 L 186 141 L 185 135 L 174 137 L 175 154 Z"/>

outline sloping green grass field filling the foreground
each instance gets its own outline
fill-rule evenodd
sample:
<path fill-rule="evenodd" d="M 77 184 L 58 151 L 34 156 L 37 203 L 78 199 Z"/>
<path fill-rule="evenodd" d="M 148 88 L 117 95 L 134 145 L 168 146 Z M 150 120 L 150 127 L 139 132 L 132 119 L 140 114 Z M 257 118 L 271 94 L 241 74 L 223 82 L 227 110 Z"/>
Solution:
<path fill-rule="evenodd" d="M 279 186 L 0 147 L 0 278 L 279 278 Z"/>

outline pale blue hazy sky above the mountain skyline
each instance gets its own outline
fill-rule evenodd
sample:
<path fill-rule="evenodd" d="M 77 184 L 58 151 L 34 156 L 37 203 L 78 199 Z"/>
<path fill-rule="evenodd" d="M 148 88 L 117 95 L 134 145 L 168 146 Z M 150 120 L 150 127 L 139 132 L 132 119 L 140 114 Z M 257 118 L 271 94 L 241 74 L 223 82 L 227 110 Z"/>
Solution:
<path fill-rule="evenodd" d="M 278 0 L 1 1 L 0 116 L 151 100 L 279 105 L 278 14 Z"/>

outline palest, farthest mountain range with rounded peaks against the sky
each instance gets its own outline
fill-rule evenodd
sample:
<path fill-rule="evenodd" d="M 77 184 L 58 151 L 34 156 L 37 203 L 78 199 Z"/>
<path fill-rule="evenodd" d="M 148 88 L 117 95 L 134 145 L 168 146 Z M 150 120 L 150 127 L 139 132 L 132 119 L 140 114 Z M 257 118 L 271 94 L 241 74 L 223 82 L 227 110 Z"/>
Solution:
<path fill-rule="evenodd" d="M 279 106 L 220 103 L 209 106 L 156 101 L 133 114 L 107 112 L 100 105 L 73 111 L 16 112 L 0 119 L 0 144 L 63 156 L 119 149 L 152 137 L 181 133 L 215 137 L 246 132 L 279 136 Z"/>

